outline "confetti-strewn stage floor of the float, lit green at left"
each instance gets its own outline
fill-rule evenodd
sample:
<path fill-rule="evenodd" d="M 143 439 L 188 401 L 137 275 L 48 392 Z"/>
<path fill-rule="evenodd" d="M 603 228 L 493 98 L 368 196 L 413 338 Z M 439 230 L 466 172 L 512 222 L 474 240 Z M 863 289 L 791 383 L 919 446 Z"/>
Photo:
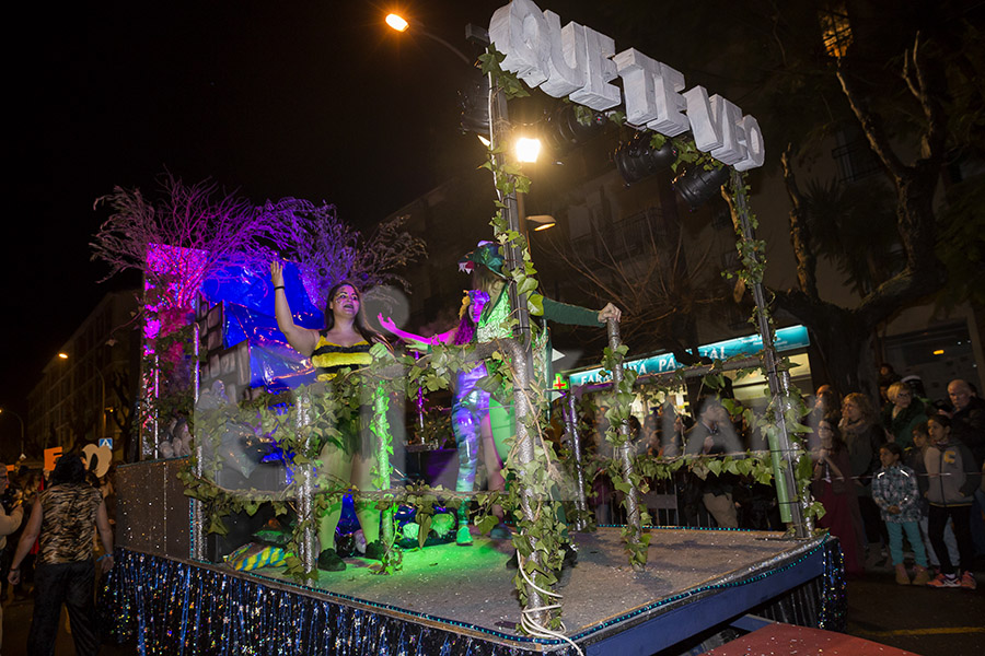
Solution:
<path fill-rule="evenodd" d="M 696 633 L 822 573 L 823 538 L 795 541 L 781 539 L 776 532 L 686 528 L 649 532 L 644 572 L 628 566 L 618 528 L 573 536 L 578 564 L 559 591 L 566 634 L 579 644 L 604 642 L 633 626 L 642 629 L 647 622 L 700 600 L 702 606 L 691 606 L 690 610 L 700 608 L 702 612 L 688 614 L 704 617 L 690 617 L 684 622 L 694 624 Z M 496 634 L 514 634 L 521 610 L 512 581 L 515 570 L 506 567 L 511 553 L 509 540 L 486 537 L 476 537 L 471 547 L 450 543 L 407 550 L 403 569 L 391 576 L 373 574 L 369 570 L 372 561 L 347 559 L 343 572 L 320 572 L 318 581 L 311 586 L 315 589 L 309 591 L 324 591 L 329 598 L 341 596 L 344 604 L 362 600 L 376 610 L 383 606 L 383 612 L 397 616 L 403 611 L 410 621 L 448 620 L 457 632 L 470 633 L 468 625 L 485 629 L 494 634 L 483 631 L 485 640 L 499 642 Z M 780 570 L 786 575 L 772 575 Z M 257 574 L 289 583 L 276 569 Z M 714 602 L 714 598 L 739 588 L 745 588 L 742 599 L 733 596 L 727 602 Z M 672 622 L 683 629 L 680 617 Z M 682 635 L 677 631 L 674 634 L 677 640 Z M 656 646 L 649 639 L 644 642 L 647 649 Z"/>

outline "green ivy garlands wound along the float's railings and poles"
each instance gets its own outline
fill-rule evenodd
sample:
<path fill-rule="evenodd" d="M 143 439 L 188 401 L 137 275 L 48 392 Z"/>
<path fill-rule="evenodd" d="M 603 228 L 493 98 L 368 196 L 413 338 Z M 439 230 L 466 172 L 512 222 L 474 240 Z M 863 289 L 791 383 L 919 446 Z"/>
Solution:
<path fill-rule="evenodd" d="M 517 97 L 528 95 L 522 83 L 508 72 L 500 69 L 499 62 L 502 61 L 502 54 L 497 52 L 490 46 L 486 55 L 480 56 L 483 62 L 483 71 L 491 73 L 496 83 L 502 89 L 508 97 Z M 579 115 L 590 115 L 591 110 L 580 106 L 576 106 Z M 587 113 L 587 114 L 586 114 Z M 610 119 L 622 124 L 623 116 L 619 113 L 609 113 Z M 651 136 L 651 144 L 654 148 L 663 145 L 668 138 L 653 133 Z M 705 153 L 697 151 L 693 142 L 671 138 L 676 150 L 677 160 L 673 164 L 676 169 L 680 163 L 698 163 L 705 168 L 714 166 L 714 161 Z M 522 171 L 508 163 L 499 162 L 501 160 L 499 151 L 490 151 L 489 161 L 484 167 L 491 171 L 497 180 L 497 188 L 506 196 L 512 191 L 526 191 L 530 187 L 530 179 L 526 178 Z M 543 314 L 543 297 L 537 293 L 538 283 L 536 280 L 536 269 L 530 258 L 530 251 L 526 247 L 524 237 L 515 231 L 510 231 L 502 210 L 506 206 L 500 201 L 496 201 L 497 212 L 490 222 L 495 230 L 497 241 L 503 246 L 517 245 L 523 254 L 522 266 L 512 270 L 506 270 L 507 278 L 512 280 L 520 293 L 528 295 L 528 305 L 532 315 L 538 316 Z M 762 257 L 765 244 L 762 241 L 746 242 L 741 232 L 739 234 L 738 248 L 742 259 L 743 268 L 738 273 L 746 281 L 748 284 L 756 280 L 762 280 L 765 267 Z M 538 328 L 535 323 L 532 325 L 532 331 Z M 383 349 L 385 351 L 385 349 Z M 276 414 L 266 407 L 257 406 L 254 408 L 258 421 L 258 430 L 262 434 L 269 435 L 275 431 L 277 433 L 277 442 L 280 447 L 289 455 L 294 467 L 312 466 L 318 471 L 318 450 L 320 445 L 325 441 L 335 441 L 340 444 L 341 434 L 337 429 L 339 422 L 355 421 L 359 413 L 360 387 L 366 385 L 379 386 L 378 400 L 383 402 L 378 408 L 385 406 L 385 400 L 393 394 L 406 394 L 408 398 L 416 398 L 419 388 L 427 391 L 436 391 L 438 389 L 448 388 L 450 380 L 456 372 L 463 367 L 472 366 L 474 362 L 474 349 L 436 345 L 432 352 L 421 360 L 415 360 L 409 355 L 394 356 L 386 352 L 384 355 L 380 350 L 374 351 L 373 364 L 358 372 L 341 373 L 333 382 L 331 391 L 318 390 L 317 394 L 311 394 L 312 407 L 310 417 L 313 421 L 303 423 L 297 421 L 297 407 L 291 408 L 287 414 Z M 616 362 L 622 363 L 625 360 L 627 349 L 625 345 L 619 347 L 616 352 L 610 349 L 605 350 L 602 365 L 613 371 Z M 401 378 L 387 378 L 380 375 L 380 370 L 384 366 L 402 365 L 407 373 Z M 494 394 L 505 405 L 511 402 L 512 398 L 512 374 L 507 362 L 507 356 L 497 351 L 491 358 L 486 359 L 488 375 L 479 380 L 477 385 Z M 750 370 L 752 371 L 752 370 Z M 741 375 L 741 374 L 740 374 Z M 709 374 L 706 376 L 706 383 L 709 387 L 721 386 L 721 374 Z M 677 372 L 675 382 L 683 384 L 683 373 Z M 382 382 L 382 383 L 381 383 Z M 618 389 L 613 390 L 607 399 L 609 409 L 606 418 L 610 420 L 610 427 L 606 431 L 606 441 L 613 446 L 614 450 L 625 442 L 625 436 L 618 432 L 618 425 L 628 419 L 630 405 L 635 395 L 634 386 L 636 383 L 636 373 L 631 370 L 624 370 L 624 378 Z M 429 488 L 427 485 L 408 485 L 403 490 L 391 490 L 385 481 L 378 480 L 378 485 L 382 492 L 367 492 L 352 489 L 345 489 L 338 482 L 328 481 L 321 475 L 315 476 L 315 488 L 317 492 L 314 494 L 314 512 L 311 518 L 301 519 L 294 524 L 294 528 L 287 546 L 289 555 L 287 558 L 286 572 L 297 581 L 312 581 L 316 578 L 316 571 L 304 571 L 300 558 L 298 558 L 299 546 L 308 529 L 314 530 L 317 526 L 317 517 L 323 514 L 329 505 L 337 503 L 343 494 L 351 493 L 355 497 L 374 499 L 380 509 L 393 507 L 396 504 L 414 507 L 418 514 L 418 523 L 421 525 L 420 540 L 421 543 L 427 536 L 427 529 L 430 525 L 430 517 L 433 514 L 436 504 L 444 504 L 449 507 L 456 508 L 461 503 L 468 503 L 477 500 L 479 503 L 476 526 L 483 532 L 488 532 L 497 523 L 497 517 L 493 514 L 494 505 L 502 505 L 508 513 L 511 513 L 517 523 L 520 532 L 513 537 L 513 544 L 521 554 L 521 562 L 524 563 L 524 570 L 532 577 L 534 583 L 540 587 L 549 589 L 557 582 L 557 573 L 560 572 L 564 552 L 561 549 L 564 538 L 567 531 L 566 525 L 558 517 L 556 512 L 560 504 L 557 499 L 570 496 L 560 496 L 558 485 L 560 481 L 572 480 L 572 477 L 563 476 L 559 468 L 564 465 L 554 449 L 553 444 L 545 437 L 546 425 L 543 409 L 546 407 L 546 397 L 543 390 L 534 389 L 540 394 L 534 394 L 531 398 L 532 412 L 526 417 L 525 426 L 531 440 L 535 441 L 537 448 L 534 448 L 534 459 L 525 466 L 521 466 L 518 460 L 517 449 L 512 448 L 507 462 L 505 464 L 505 473 L 511 478 L 519 479 L 523 485 L 510 484 L 505 493 L 500 492 L 478 492 L 478 493 L 457 493 L 439 488 Z M 795 395 L 795 399 L 799 399 Z M 726 400 L 728 403 L 728 400 Z M 727 406 L 728 407 L 728 406 Z M 385 409 L 385 408 L 384 408 Z M 733 410 L 734 408 L 729 408 Z M 770 423 L 772 414 L 775 409 L 767 413 L 766 417 L 756 417 L 750 409 L 744 409 L 748 413 L 746 419 L 750 425 L 761 431 L 776 430 L 775 421 Z M 227 410 L 228 412 L 228 410 Z M 799 414 L 798 414 L 799 413 Z M 786 410 L 785 419 L 788 425 L 795 432 L 803 432 L 807 429 L 799 424 L 799 419 L 806 414 L 806 409 L 796 402 L 789 403 Z M 221 438 L 219 431 L 230 418 L 223 415 L 223 411 L 217 411 L 212 414 L 202 414 L 199 412 L 196 426 L 196 438 L 208 440 L 212 442 L 213 448 L 217 446 L 217 440 Z M 379 436 L 389 433 L 389 427 L 383 422 L 379 422 L 373 426 L 374 433 Z M 766 434 L 766 433 L 764 433 Z M 392 452 L 392 446 L 391 446 Z M 190 459 L 181 472 L 181 478 L 186 487 L 186 494 L 202 501 L 206 505 L 206 514 L 209 519 L 208 530 L 212 532 L 225 534 L 227 528 L 222 523 L 222 517 L 230 513 L 245 512 L 250 515 L 256 513 L 260 504 L 270 503 L 274 512 L 278 516 L 287 515 L 292 508 L 293 500 L 298 495 L 298 485 L 292 483 L 285 490 L 276 493 L 251 491 L 230 491 L 217 485 L 215 473 L 219 467 L 218 461 L 210 469 L 208 475 L 199 478 L 195 475 L 195 461 Z M 630 480 L 624 480 L 621 464 L 615 459 L 609 461 L 594 469 L 594 473 L 601 470 L 607 470 L 612 477 L 614 487 L 626 492 L 629 485 L 635 485 L 640 494 L 648 490 L 647 479 L 669 479 L 682 469 L 687 468 L 697 476 L 734 473 L 738 476 L 751 477 L 757 482 L 768 483 L 773 478 L 773 471 L 766 459 L 760 454 L 746 454 L 742 457 L 725 456 L 725 457 L 696 457 L 682 456 L 669 459 L 652 458 L 634 458 L 634 473 Z M 801 495 L 809 488 L 811 466 L 809 456 L 804 455 L 800 459 L 798 466 L 797 478 L 800 484 Z M 379 476 L 379 471 L 376 475 Z M 590 473 L 592 473 L 590 469 Z M 587 477 L 587 487 L 590 487 L 592 476 Z M 521 512 L 521 488 L 525 488 L 532 493 L 533 519 L 529 520 Z M 567 492 L 570 492 L 568 490 Z M 804 497 L 804 496 L 801 496 Z M 625 494 L 624 494 L 625 503 Z M 645 507 L 640 507 L 641 523 L 648 524 L 649 517 Z M 808 513 L 814 515 L 823 513 L 820 504 L 813 504 L 808 507 Z M 589 513 L 591 515 L 591 513 Z M 589 518 L 591 519 L 591 518 Z M 628 529 L 627 529 L 628 530 Z M 630 564 L 642 565 L 646 563 L 647 546 L 649 536 L 644 535 L 639 543 L 633 543 L 630 532 L 624 530 L 626 538 L 626 548 L 629 555 Z M 525 539 L 524 536 L 532 538 Z M 531 559 L 532 546 L 535 546 L 537 552 L 537 564 Z M 390 573 L 399 569 L 399 551 L 387 546 L 387 552 L 384 557 L 382 566 L 374 569 L 380 573 Z M 526 598 L 526 585 L 522 576 L 518 572 L 514 577 L 521 602 L 524 605 Z M 554 611 L 549 617 L 549 625 L 558 628 L 560 625 L 560 613 Z"/>

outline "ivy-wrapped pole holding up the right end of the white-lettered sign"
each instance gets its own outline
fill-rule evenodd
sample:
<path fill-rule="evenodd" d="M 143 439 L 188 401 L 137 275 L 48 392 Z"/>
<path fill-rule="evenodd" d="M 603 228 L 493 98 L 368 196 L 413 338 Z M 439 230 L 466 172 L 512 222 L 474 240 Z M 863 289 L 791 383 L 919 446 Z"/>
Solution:
<path fill-rule="evenodd" d="M 769 320 L 769 311 L 766 304 L 766 290 L 763 285 L 763 245 L 755 238 L 755 229 L 750 215 L 749 199 L 746 197 L 745 180 L 742 174 L 732 169 L 731 173 L 731 202 L 737 218 L 737 232 L 739 233 L 739 256 L 742 259 L 744 277 L 750 284 L 753 300 L 756 304 L 756 324 L 763 339 L 763 361 L 766 370 L 766 380 L 769 393 L 773 395 L 772 409 L 775 419 L 775 430 L 767 432 L 769 453 L 773 458 L 774 480 L 776 482 L 777 501 L 779 502 L 780 518 L 792 529 L 797 538 L 809 536 L 808 525 L 803 518 L 803 507 L 799 500 L 796 469 L 797 461 L 787 431 L 788 410 L 790 409 L 790 373 L 786 368 L 777 366 L 777 353 L 773 343 L 773 325 Z"/>

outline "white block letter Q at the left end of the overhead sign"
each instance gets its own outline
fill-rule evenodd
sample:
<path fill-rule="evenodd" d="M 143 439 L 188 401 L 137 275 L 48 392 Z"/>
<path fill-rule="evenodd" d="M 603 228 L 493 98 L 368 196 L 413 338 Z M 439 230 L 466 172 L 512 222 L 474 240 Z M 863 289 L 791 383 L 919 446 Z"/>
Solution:
<path fill-rule="evenodd" d="M 489 21 L 489 38 L 506 55 L 500 65 L 531 86 L 547 79 L 551 43 L 547 20 L 531 0 L 513 0 L 500 7 Z"/>

